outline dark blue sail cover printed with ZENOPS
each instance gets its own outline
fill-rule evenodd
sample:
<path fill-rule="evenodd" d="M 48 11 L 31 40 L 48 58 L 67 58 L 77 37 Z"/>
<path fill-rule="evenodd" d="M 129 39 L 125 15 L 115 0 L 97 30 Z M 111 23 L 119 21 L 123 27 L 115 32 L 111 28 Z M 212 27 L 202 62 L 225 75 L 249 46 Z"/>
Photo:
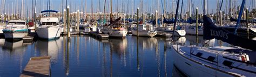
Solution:
<path fill-rule="evenodd" d="M 211 18 L 204 16 L 204 39 L 218 39 L 234 46 L 240 46 L 252 51 L 256 51 L 256 40 L 239 37 L 227 30 L 213 24 Z"/>

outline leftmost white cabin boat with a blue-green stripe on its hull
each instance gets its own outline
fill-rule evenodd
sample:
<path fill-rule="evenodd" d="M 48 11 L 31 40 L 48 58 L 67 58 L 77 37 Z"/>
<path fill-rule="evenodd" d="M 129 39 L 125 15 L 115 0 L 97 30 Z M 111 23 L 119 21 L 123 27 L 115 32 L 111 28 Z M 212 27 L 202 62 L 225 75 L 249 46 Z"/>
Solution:
<path fill-rule="evenodd" d="M 5 39 L 22 39 L 28 35 L 28 31 L 24 20 L 10 20 L 3 29 Z"/>

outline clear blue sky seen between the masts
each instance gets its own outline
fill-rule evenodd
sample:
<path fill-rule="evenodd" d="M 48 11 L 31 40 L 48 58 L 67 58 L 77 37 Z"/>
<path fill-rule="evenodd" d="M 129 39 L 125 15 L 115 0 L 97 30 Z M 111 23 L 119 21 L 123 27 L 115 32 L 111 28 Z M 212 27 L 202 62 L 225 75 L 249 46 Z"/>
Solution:
<path fill-rule="evenodd" d="M 1 0 L 1 14 L 2 14 L 2 1 Z M 21 9 L 21 3 L 22 0 L 5 0 L 6 1 L 6 11 L 5 13 L 15 13 L 15 10 L 17 12 L 17 5 L 19 5 L 19 9 Z M 17 2 L 18 1 L 18 2 Z M 32 1 L 36 1 L 36 0 L 23 0 L 24 1 L 24 7 L 25 7 L 25 16 L 26 16 L 26 9 L 28 9 L 29 11 L 29 16 L 31 16 L 31 7 L 32 7 Z M 50 0 L 51 1 L 51 9 L 53 10 L 57 10 L 62 12 L 62 0 Z M 83 1 L 83 3 L 82 3 Z M 86 1 L 86 2 L 85 2 Z M 113 12 L 117 11 L 117 8 L 119 9 L 118 12 L 122 12 L 122 11 L 127 11 L 127 13 L 132 13 L 132 12 L 136 12 L 137 7 L 139 7 L 140 9 L 142 8 L 140 5 L 140 2 L 142 0 L 112 0 L 113 2 Z M 218 0 L 207 0 L 208 2 L 208 13 L 215 13 L 215 9 L 217 9 L 217 1 Z M 224 0 L 223 3 L 223 8 L 222 10 L 225 10 L 225 6 L 226 6 L 226 2 L 228 2 L 230 0 Z M 238 1 L 236 4 L 241 5 L 241 1 L 242 0 L 235 0 Z M 252 1 L 254 1 L 254 3 L 256 2 L 255 0 L 246 0 L 247 1 L 247 7 L 251 7 L 252 6 Z M 37 0 L 37 8 L 36 11 L 42 11 L 42 10 L 46 10 L 47 7 L 47 2 L 48 0 Z M 117 4 L 118 2 L 118 4 Z M 163 13 L 163 7 L 162 7 L 162 2 L 164 3 L 164 0 L 143 0 L 143 12 L 148 12 L 148 13 L 154 13 L 157 10 L 157 4 L 159 5 L 159 12 Z M 181 8 L 181 2 L 182 0 L 180 0 L 180 8 Z M 199 9 L 199 13 L 203 13 L 203 0 L 191 0 L 192 2 L 192 6 L 191 9 L 196 8 L 196 6 L 198 6 Z M 219 2 L 221 2 L 221 0 L 219 0 Z M 15 4 L 16 3 L 16 4 Z M 17 4 L 18 3 L 18 4 Z M 110 0 L 106 0 L 106 12 L 109 12 L 110 10 Z M 122 4 L 123 3 L 123 4 Z M 172 12 L 175 11 L 173 10 L 176 9 L 176 3 L 177 0 L 166 0 L 166 12 Z M 184 6 L 183 6 L 183 12 L 187 11 L 188 9 L 188 0 L 184 0 Z M 85 12 L 85 7 L 86 7 L 86 12 L 92 12 L 91 9 L 93 9 L 93 12 L 99 12 L 99 5 L 100 5 L 100 12 L 103 12 L 103 8 L 104 8 L 104 0 L 67 0 L 67 5 L 70 6 L 71 8 L 71 12 L 77 11 L 77 9 L 79 9 L 80 11 Z M 81 9 L 81 5 L 83 6 L 83 8 Z M 227 3 L 228 5 L 228 3 Z M 16 6 L 16 9 L 15 9 Z M 122 8 L 123 6 L 123 8 Z M 65 0 L 64 0 L 64 7 L 65 7 Z M 147 7 L 147 8 L 146 8 Z M 133 8 L 133 11 L 132 11 Z M 127 10 L 129 9 L 129 10 Z M 180 9 L 179 9 L 180 10 Z M 19 10 L 20 11 L 20 10 Z M 193 10 L 192 10 L 193 12 Z"/>

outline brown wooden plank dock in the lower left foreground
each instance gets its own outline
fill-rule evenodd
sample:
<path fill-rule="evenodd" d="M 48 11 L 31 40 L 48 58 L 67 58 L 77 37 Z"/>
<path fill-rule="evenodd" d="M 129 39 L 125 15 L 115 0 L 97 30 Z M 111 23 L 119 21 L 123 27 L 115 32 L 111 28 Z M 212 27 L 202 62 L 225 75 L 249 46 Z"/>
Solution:
<path fill-rule="evenodd" d="M 23 69 L 21 77 L 50 76 L 51 57 L 32 57 Z"/>

